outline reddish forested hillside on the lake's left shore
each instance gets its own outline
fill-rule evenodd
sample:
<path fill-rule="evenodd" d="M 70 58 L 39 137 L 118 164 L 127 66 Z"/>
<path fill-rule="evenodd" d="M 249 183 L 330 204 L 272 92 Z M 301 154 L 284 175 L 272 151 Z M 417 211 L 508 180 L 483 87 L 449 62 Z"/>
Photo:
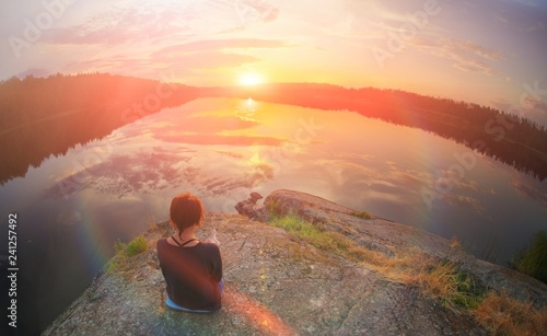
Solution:
<path fill-rule="evenodd" d="M 0 183 L 24 176 L 50 155 L 109 135 L 114 129 L 196 97 L 196 90 L 105 73 L 0 82 Z"/>

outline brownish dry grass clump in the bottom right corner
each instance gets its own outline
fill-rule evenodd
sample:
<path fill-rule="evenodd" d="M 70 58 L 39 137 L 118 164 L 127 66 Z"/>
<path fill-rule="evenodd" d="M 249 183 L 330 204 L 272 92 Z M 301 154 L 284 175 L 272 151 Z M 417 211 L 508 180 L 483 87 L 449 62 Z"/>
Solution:
<path fill-rule="evenodd" d="M 547 309 L 534 309 L 504 293 L 490 292 L 474 310 L 477 321 L 496 335 L 545 335 Z"/>

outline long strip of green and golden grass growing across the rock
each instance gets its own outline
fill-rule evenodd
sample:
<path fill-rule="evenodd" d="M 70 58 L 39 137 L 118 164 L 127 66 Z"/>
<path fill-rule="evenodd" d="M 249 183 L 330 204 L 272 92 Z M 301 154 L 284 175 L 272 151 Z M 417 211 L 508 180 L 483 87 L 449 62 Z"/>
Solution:
<path fill-rule="evenodd" d="M 419 248 L 398 251 L 398 255 L 389 257 L 360 246 L 341 233 L 317 229 L 295 216 L 275 218 L 270 223 L 322 251 L 366 266 L 394 281 L 414 286 L 423 296 L 440 300 L 444 306 L 464 309 L 493 334 L 545 335 L 547 331 L 547 309 L 538 311 L 532 303 L 494 292 L 487 296 L 475 287 L 469 276 L 458 271 L 458 265 L 453 262 L 438 260 Z M 462 248 L 455 239 L 451 241 L 451 247 Z"/>

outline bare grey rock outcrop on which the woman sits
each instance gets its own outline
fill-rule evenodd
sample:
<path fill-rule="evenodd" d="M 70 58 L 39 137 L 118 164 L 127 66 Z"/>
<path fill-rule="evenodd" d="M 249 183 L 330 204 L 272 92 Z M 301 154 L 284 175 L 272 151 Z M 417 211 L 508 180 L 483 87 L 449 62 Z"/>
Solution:
<path fill-rule="evenodd" d="M 255 200 L 254 200 L 255 201 Z M 543 304 L 547 286 L 478 260 L 450 241 L 291 190 L 277 190 L 255 206 L 260 219 L 293 216 L 322 232 L 336 232 L 386 257 L 407 251 L 454 260 L 482 288 Z M 253 207 L 251 206 L 249 209 Z M 254 213 L 256 215 L 256 213 Z M 253 216 L 256 218 L 257 216 Z M 465 311 L 440 304 L 405 281 L 314 247 L 295 234 L 246 216 L 207 212 L 203 229 L 217 229 L 224 263 L 223 308 L 212 314 L 173 311 L 155 242 L 171 234 L 159 223 L 144 236 L 150 248 L 116 271 L 94 279 L 45 335 L 481 335 Z M 198 232 L 205 236 L 206 231 Z"/>

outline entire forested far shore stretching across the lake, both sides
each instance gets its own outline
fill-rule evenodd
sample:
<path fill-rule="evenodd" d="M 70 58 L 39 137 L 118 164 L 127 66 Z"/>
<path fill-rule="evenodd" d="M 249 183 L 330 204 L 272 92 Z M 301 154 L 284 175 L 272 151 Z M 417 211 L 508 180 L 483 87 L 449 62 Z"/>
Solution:
<path fill-rule="evenodd" d="M 195 88 L 89 73 L 12 78 L 0 82 L 0 184 L 24 176 L 49 155 L 101 139 L 165 107 L 200 97 L 253 97 L 420 128 L 465 144 L 539 181 L 547 177 L 547 130 L 528 119 L 477 104 L 397 90 L 277 83 Z"/>

